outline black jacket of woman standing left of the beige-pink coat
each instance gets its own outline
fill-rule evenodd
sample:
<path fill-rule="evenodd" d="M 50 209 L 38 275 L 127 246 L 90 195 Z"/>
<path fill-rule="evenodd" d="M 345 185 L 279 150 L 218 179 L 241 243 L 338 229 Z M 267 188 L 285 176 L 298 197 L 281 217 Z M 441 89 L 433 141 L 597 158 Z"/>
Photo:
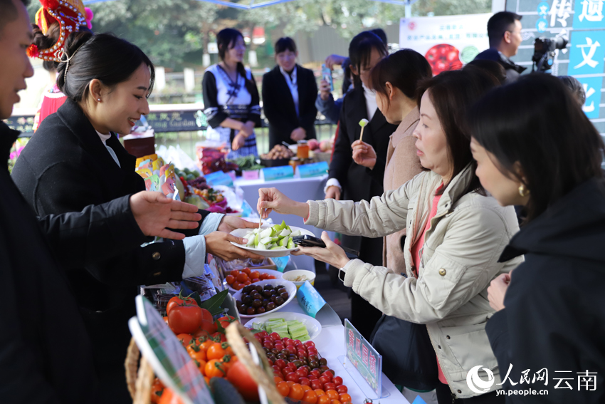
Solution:
<path fill-rule="evenodd" d="M 364 128 L 365 143 L 374 147 L 377 162 L 374 169 L 358 165 L 353 161 L 352 143 L 359 140 L 362 128 L 359 120 L 367 119 L 366 99 L 364 89 L 358 86 L 349 91 L 342 101 L 340 113 L 340 130 L 334 147 L 334 155 L 330 162 L 330 178 L 336 178 L 342 186 L 341 200 L 369 201 L 372 197 L 382 195 L 384 192 L 384 166 L 386 165 L 386 150 L 389 138 L 396 130 L 397 125 L 386 122 L 386 118 L 379 109 Z M 362 239 L 367 241 L 369 254 L 363 254 Z M 360 259 L 374 265 L 382 265 L 382 238 L 366 239 L 365 237 L 343 236 L 342 242 L 346 247 L 359 251 Z M 371 245 L 371 247 L 370 247 Z"/>

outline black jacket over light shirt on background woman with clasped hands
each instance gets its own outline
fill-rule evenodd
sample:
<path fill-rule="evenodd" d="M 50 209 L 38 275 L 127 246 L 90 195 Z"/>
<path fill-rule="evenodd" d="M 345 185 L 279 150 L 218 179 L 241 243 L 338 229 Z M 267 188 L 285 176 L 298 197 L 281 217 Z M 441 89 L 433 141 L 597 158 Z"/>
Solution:
<path fill-rule="evenodd" d="M 263 76 L 263 110 L 269 121 L 269 148 L 282 142 L 290 145 L 296 143 L 290 139 L 290 133 L 296 128 L 307 131 L 307 140 L 315 139 L 315 98 L 317 98 L 317 82 L 313 71 L 296 65 L 296 81 L 298 83 L 298 111 L 290 93 L 288 83 L 279 66 Z"/>

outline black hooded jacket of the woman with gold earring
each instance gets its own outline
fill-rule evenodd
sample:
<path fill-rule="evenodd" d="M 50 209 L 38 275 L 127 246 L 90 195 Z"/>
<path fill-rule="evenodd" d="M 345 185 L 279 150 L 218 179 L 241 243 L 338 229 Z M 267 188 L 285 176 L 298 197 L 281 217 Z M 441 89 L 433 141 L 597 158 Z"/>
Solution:
<path fill-rule="evenodd" d="M 500 375 L 512 364 L 513 390 L 527 388 L 521 372 L 548 370 L 548 395 L 511 395 L 507 403 L 604 403 L 605 390 L 605 185 L 589 180 L 522 227 L 500 261 L 525 254 L 512 271 L 505 309 L 485 330 Z M 596 391 L 578 390 L 582 372 L 596 372 Z M 570 372 L 570 373 L 557 373 Z M 571 378 L 566 387 L 562 380 Z"/>

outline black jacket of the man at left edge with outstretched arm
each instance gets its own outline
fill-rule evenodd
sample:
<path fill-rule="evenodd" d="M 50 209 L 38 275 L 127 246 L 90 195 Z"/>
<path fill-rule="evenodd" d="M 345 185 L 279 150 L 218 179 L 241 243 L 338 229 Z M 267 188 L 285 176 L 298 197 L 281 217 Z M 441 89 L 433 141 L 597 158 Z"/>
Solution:
<path fill-rule="evenodd" d="M 112 254 L 112 234 L 120 237 L 117 249 L 147 238 L 128 197 L 81 213 L 37 218 L 6 165 L 17 135 L 0 123 L 1 401 L 95 403 L 90 338 L 59 264 L 73 268 Z"/>

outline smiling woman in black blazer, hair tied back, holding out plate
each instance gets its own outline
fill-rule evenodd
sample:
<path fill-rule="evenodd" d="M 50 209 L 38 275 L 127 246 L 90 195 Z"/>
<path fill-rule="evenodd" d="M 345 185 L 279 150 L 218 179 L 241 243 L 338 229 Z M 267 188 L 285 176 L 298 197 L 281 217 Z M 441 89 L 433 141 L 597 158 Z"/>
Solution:
<path fill-rule="evenodd" d="M 126 152 L 115 133 L 130 133 L 134 121 L 149 113 L 151 61 L 136 46 L 107 34 L 76 33 L 65 48 L 70 63 L 69 67 L 59 64 L 57 84 L 68 100 L 43 120 L 12 172 L 38 215 L 80 212 L 90 204 L 145 189 L 144 180 L 135 172 L 135 157 Z M 231 253 L 223 249 L 231 248 L 230 234 L 211 233 L 219 227 L 229 230 L 246 224 L 200 213 L 199 226 L 183 231 L 187 236 L 183 241 L 124 249 L 120 255 L 66 273 L 106 387 L 100 402 L 132 403 L 123 363 L 130 341 L 128 320 L 136 315 L 140 285 L 198 276 L 205 252 L 230 259 L 248 255 L 243 249 Z M 115 234 L 115 244 L 120 244 L 120 237 Z"/>

